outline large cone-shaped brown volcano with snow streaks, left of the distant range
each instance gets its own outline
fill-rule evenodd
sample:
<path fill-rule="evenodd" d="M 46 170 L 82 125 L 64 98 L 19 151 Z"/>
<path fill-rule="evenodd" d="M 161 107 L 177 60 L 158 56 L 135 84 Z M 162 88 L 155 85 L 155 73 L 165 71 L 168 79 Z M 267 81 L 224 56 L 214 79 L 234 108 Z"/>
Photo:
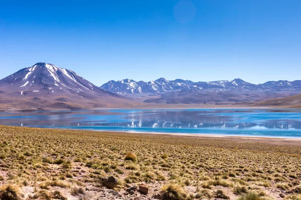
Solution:
<path fill-rule="evenodd" d="M 3 78 L 0 91 L 2 101 L 13 107 L 93 108 L 132 103 L 131 99 L 105 91 L 72 70 L 44 62 Z"/>

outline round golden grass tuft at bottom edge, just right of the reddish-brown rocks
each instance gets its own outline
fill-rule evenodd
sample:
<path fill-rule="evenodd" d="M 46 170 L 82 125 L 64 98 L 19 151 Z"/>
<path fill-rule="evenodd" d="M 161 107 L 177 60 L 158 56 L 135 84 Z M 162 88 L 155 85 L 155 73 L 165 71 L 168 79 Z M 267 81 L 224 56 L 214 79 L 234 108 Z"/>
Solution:
<path fill-rule="evenodd" d="M 163 199 L 171 200 L 185 200 L 187 198 L 187 192 L 178 184 L 165 184 L 161 188 Z"/>

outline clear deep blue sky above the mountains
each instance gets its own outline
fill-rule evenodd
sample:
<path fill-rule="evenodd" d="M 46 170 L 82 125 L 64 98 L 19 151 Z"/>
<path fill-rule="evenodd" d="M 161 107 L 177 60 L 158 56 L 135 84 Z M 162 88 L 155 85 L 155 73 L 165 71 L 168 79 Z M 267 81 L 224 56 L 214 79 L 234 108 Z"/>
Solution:
<path fill-rule="evenodd" d="M 301 79 L 300 0 L 1 0 L 0 78 L 36 62 L 115 79 Z"/>

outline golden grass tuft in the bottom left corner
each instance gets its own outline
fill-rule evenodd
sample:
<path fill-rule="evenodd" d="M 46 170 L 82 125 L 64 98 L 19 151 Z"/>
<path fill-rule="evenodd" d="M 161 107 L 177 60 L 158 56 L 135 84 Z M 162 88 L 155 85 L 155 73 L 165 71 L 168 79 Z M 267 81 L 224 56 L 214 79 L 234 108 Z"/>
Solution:
<path fill-rule="evenodd" d="M 0 199 L 2 200 L 21 200 L 24 194 L 19 186 L 15 184 L 6 184 L 0 186 Z"/>

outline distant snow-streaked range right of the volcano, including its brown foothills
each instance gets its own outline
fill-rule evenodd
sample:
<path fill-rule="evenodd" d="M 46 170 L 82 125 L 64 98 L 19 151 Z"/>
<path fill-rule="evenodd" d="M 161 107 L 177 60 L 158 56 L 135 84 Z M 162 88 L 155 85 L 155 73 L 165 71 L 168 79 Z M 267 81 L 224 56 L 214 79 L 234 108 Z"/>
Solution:
<path fill-rule="evenodd" d="M 166 78 L 148 82 L 123 79 L 108 81 L 100 88 L 148 103 L 231 104 L 299 94 L 301 80 L 253 84 L 240 78 L 209 82 Z"/>

